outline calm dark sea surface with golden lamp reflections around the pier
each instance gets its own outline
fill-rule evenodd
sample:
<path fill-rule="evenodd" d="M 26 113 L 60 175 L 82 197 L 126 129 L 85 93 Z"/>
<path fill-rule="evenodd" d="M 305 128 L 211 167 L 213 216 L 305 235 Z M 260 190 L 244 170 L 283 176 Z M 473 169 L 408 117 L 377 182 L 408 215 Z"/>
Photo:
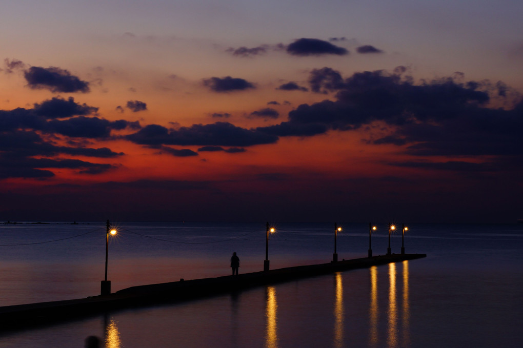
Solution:
<path fill-rule="evenodd" d="M 263 270 L 265 222 L 114 224 L 112 292 L 229 275 L 234 251 L 240 273 Z M 369 224 L 338 225 L 338 259 L 367 257 Z M 274 226 L 271 269 L 332 260 L 334 223 Z M 389 241 L 377 227 L 374 255 Z M 0 347 L 521 347 L 523 224 L 408 225 L 404 244 L 427 258 L 1 333 Z M 105 222 L 1 224 L 0 306 L 98 295 L 105 251 Z"/>

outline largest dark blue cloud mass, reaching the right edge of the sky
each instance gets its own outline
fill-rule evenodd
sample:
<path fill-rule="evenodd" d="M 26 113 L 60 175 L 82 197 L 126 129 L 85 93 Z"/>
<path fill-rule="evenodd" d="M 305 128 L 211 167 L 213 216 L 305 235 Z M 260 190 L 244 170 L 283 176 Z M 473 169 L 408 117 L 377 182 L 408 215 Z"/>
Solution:
<path fill-rule="evenodd" d="M 505 170 L 523 163 L 523 102 L 514 109 L 488 108 L 491 96 L 506 95 L 504 84 L 458 83 L 452 78 L 414 84 L 412 78 L 385 71 L 343 78 L 331 68 L 315 69 L 311 90 L 335 92 L 335 100 L 303 104 L 289 121 L 257 131 L 276 136 L 311 136 L 328 130 L 350 131 L 383 122 L 390 134 L 372 144 L 405 146 L 414 156 L 496 156 L 483 165 L 402 163 L 401 166 L 448 170 Z M 498 164 L 504 165 L 498 167 Z M 511 164 L 509 164 L 511 163 Z"/>

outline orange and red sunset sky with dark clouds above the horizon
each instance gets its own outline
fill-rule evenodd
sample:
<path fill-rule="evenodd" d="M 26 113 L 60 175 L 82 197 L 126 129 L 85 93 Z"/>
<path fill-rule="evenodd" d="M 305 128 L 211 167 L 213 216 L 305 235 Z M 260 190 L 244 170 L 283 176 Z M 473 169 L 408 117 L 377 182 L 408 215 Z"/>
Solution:
<path fill-rule="evenodd" d="M 0 221 L 523 218 L 523 2 L 19 0 Z"/>

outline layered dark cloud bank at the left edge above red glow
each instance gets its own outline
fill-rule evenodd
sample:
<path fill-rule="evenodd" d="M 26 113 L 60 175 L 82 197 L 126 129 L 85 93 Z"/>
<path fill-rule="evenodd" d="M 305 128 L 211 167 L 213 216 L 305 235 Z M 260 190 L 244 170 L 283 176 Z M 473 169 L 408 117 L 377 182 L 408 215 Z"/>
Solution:
<path fill-rule="evenodd" d="M 112 158 L 123 155 L 109 148 L 90 148 L 71 144 L 59 146 L 56 136 L 70 138 L 109 138 L 111 130 L 139 129 L 138 122 L 108 121 L 95 117 L 98 108 L 69 99 L 52 98 L 35 103 L 32 109 L 0 110 L 0 179 L 48 178 L 51 170 L 69 168 L 78 173 L 98 174 L 112 165 L 90 163 L 77 159 L 49 159 L 59 155 Z M 42 157 L 42 158 L 33 158 Z"/>

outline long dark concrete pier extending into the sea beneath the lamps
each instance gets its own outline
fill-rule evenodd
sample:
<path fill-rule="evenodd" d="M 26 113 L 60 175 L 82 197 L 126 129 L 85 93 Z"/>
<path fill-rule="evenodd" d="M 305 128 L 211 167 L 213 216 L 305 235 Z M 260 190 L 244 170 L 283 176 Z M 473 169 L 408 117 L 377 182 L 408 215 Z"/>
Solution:
<path fill-rule="evenodd" d="M 216 278 L 133 286 L 113 294 L 82 299 L 5 306 L 0 307 L 0 332 L 24 330 L 33 326 L 96 316 L 113 310 L 176 303 L 255 286 L 424 257 L 426 254 L 391 254 Z"/>

